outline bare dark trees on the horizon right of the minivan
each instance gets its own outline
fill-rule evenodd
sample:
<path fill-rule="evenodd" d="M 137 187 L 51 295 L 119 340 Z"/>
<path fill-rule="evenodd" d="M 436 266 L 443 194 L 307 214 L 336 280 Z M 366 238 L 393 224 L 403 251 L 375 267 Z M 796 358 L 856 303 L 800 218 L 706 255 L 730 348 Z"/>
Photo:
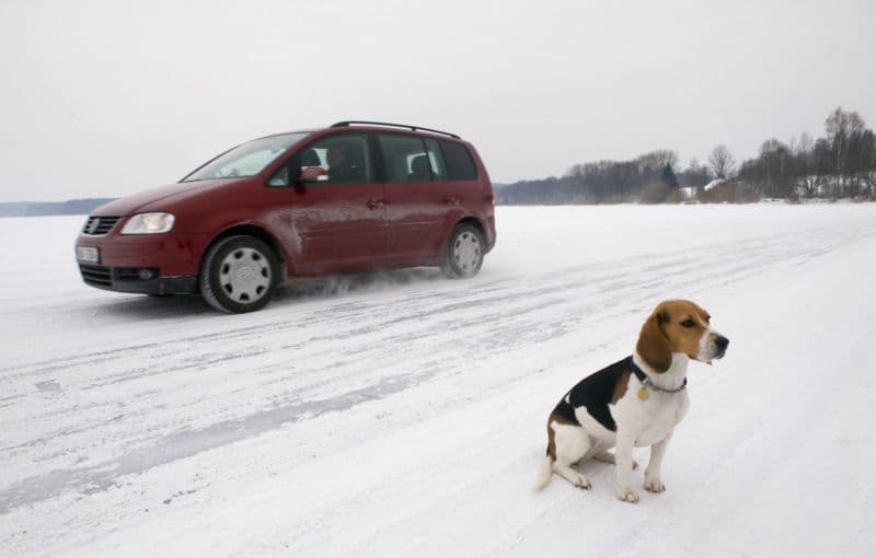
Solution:
<path fill-rule="evenodd" d="M 504 205 L 876 199 L 876 136 L 856 112 L 842 107 L 828 115 L 822 137 L 768 139 L 757 156 L 739 164 L 723 144 L 706 163 L 693 159 L 682 170 L 678 160 L 676 151 L 657 150 L 632 161 L 576 164 L 560 177 L 503 186 L 496 199 Z"/>

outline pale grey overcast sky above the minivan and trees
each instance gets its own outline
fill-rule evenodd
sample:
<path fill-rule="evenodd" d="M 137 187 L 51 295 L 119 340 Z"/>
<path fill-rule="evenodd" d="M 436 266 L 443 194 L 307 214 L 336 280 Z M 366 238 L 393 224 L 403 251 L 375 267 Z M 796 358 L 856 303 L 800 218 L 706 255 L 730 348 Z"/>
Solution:
<path fill-rule="evenodd" d="M 876 126 L 874 1 L 0 0 L 0 201 L 116 197 L 342 119 L 472 141 L 494 182 Z"/>

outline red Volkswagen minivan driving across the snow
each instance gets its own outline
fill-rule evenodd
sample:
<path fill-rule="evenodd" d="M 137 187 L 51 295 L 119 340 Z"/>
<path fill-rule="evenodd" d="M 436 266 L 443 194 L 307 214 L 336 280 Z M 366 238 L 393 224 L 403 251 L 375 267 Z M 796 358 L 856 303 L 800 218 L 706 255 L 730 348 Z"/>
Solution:
<path fill-rule="evenodd" d="M 343 121 L 243 143 L 177 184 L 101 206 L 76 252 L 92 287 L 200 293 L 237 313 L 293 277 L 414 266 L 472 277 L 495 242 L 493 188 L 471 143 Z"/>

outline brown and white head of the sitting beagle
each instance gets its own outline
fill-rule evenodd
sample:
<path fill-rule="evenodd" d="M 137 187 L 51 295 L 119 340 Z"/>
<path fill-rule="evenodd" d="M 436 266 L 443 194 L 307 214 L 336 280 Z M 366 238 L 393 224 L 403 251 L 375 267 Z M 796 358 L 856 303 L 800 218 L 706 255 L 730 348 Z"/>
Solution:
<path fill-rule="evenodd" d="M 661 302 L 643 324 L 636 351 L 657 372 L 669 370 L 673 352 L 711 364 L 724 357 L 730 344 L 712 329 L 711 317 L 691 301 Z"/>

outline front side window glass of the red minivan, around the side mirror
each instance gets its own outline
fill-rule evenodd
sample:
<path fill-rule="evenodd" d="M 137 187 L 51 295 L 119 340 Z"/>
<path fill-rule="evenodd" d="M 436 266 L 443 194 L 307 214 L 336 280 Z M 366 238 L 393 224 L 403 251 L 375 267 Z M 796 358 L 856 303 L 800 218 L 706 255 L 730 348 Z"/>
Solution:
<path fill-rule="evenodd" d="M 328 184 L 373 182 L 368 136 L 344 133 L 321 139 L 296 153 L 289 165 L 278 171 L 268 184 L 288 186 L 290 171 L 297 177 L 301 172 L 312 167 L 325 171 L 325 183 Z M 291 183 L 295 182 L 295 177 L 291 178 Z"/>

